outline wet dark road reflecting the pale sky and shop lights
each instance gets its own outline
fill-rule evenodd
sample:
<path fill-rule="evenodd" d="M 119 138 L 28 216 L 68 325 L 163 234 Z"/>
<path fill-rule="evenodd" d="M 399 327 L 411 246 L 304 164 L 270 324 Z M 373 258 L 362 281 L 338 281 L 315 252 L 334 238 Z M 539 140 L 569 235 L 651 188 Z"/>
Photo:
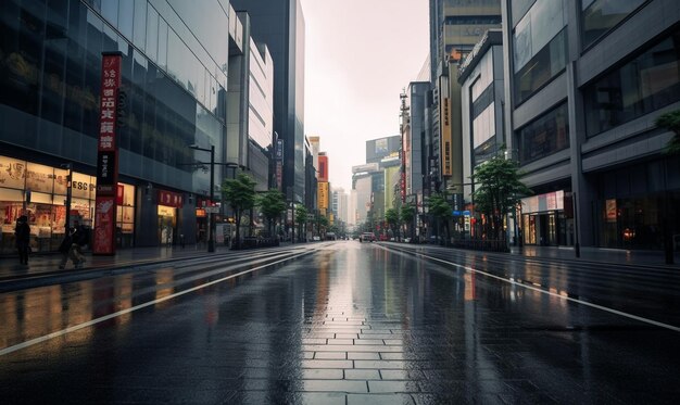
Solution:
<path fill-rule="evenodd" d="M 0 402 L 680 397 L 672 270 L 354 241 L 267 255 L 0 294 Z"/>

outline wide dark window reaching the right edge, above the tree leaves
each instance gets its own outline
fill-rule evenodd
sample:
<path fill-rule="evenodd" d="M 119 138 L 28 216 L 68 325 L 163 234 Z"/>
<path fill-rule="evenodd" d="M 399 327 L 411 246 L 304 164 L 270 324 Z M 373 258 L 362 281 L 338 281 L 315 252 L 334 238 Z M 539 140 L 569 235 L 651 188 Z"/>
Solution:
<path fill-rule="evenodd" d="M 680 30 L 583 89 L 588 136 L 680 101 Z"/>

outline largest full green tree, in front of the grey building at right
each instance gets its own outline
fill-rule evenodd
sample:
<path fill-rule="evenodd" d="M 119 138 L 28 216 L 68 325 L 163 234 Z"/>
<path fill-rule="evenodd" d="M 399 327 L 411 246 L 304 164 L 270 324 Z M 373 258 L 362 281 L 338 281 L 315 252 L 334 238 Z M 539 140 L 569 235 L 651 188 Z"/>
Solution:
<path fill-rule="evenodd" d="M 475 168 L 470 176 L 476 190 L 473 192 L 475 208 L 488 218 L 487 226 L 493 239 L 501 239 L 503 218 L 514 210 L 519 199 L 532 191 L 520 181 L 517 161 L 503 156 L 504 150 Z"/>

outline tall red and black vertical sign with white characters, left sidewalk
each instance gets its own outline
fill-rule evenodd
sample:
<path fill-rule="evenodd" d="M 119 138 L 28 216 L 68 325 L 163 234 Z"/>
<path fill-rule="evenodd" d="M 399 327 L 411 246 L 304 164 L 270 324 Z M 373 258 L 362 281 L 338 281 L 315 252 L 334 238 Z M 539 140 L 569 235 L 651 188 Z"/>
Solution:
<path fill-rule="evenodd" d="M 118 193 L 118 145 L 116 118 L 121 89 L 121 52 L 103 52 L 99 141 L 97 142 L 97 200 L 92 253 L 115 253 L 116 197 Z"/>

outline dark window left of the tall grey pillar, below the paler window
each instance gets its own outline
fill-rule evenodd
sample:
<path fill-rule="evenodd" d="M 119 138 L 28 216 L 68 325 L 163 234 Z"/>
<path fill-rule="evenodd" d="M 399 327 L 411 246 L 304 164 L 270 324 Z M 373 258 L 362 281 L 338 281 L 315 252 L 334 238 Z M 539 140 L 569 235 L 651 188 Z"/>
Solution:
<path fill-rule="evenodd" d="M 527 164 L 569 148 L 567 104 L 543 114 L 517 131 L 519 162 Z"/>

